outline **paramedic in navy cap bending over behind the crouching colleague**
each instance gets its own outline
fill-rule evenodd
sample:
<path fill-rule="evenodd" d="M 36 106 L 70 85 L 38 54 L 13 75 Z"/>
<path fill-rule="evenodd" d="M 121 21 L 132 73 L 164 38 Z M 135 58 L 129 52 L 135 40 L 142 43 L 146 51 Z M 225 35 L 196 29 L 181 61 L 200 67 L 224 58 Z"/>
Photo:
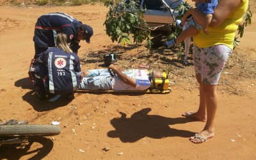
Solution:
<path fill-rule="evenodd" d="M 35 24 L 33 41 L 35 42 L 35 59 L 49 47 L 56 47 L 56 36 L 65 33 L 70 38 L 70 49 L 77 54 L 80 40 L 90 43 L 92 27 L 83 24 L 66 13 L 47 13 L 38 18 Z"/>

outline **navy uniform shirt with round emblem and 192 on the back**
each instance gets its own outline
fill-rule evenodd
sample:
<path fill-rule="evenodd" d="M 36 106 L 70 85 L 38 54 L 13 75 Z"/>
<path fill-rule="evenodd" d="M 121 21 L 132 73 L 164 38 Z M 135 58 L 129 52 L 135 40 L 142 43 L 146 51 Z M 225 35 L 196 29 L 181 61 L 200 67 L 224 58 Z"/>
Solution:
<path fill-rule="evenodd" d="M 50 93 L 67 94 L 81 83 L 81 65 L 75 53 L 67 53 L 58 47 L 49 48 L 38 61 L 46 66 L 40 67 L 40 76 Z"/>

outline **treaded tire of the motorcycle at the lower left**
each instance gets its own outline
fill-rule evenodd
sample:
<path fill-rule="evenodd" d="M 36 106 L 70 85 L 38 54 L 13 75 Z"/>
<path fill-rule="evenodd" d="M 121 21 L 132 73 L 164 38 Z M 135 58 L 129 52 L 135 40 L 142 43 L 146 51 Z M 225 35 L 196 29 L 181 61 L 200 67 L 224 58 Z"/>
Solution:
<path fill-rule="evenodd" d="M 1 125 L 0 137 L 3 136 L 55 136 L 60 134 L 58 125 L 28 124 L 28 125 Z"/>

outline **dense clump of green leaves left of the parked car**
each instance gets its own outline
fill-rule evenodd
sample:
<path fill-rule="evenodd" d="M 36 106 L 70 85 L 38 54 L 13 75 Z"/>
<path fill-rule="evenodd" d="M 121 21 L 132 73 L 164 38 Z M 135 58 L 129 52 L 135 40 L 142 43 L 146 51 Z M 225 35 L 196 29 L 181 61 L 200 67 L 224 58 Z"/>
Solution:
<path fill-rule="evenodd" d="M 115 1 L 110 0 L 105 3 L 109 8 L 104 25 L 106 34 L 111 37 L 112 42 L 121 45 L 133 42 L 141 44 L 147 42 L 148 49 L 151 49 L 151 30 L 145 20 L 143 20 L 143 9 L 140 8 L 140 1 Z"/>

